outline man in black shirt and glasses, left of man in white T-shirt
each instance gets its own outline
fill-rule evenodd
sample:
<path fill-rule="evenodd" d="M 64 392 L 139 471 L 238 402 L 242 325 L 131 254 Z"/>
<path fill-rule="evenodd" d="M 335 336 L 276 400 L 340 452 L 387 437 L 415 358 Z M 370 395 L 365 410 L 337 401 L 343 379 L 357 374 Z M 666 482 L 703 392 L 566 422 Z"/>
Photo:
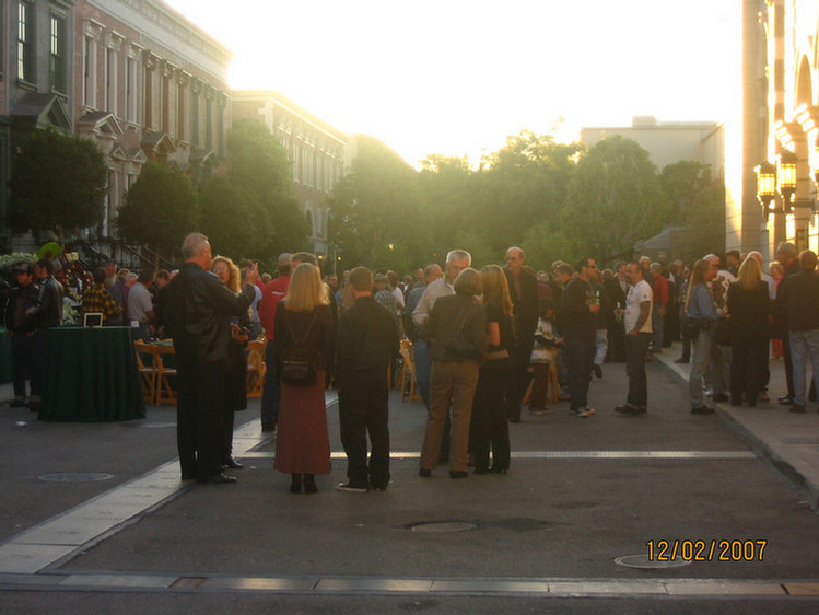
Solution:
<path fill-rule="evenodd" d="M 560 308 L 559 329 L 565 345 L 569 394 L 569 409 L 577 418 L 595 414 L 588 406 L 588 381 L 595 360 L 596 314 L 600 311 L 600 298 L 589 283 L 597 272 L 597 264 L 592 258 L 583 258 L 577 264 L 577 277 L 570 281 L 563 291 Z"/>

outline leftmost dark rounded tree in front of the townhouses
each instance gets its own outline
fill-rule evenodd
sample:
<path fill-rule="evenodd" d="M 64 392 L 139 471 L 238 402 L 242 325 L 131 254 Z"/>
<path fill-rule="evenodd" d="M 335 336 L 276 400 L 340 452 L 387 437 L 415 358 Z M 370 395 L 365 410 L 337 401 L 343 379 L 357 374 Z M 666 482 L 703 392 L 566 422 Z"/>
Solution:
<path fill-rule="evenodd" d="M 103 219 L 108 167 L 105 154 L 87 139 L 48 128 L 20 148 L 9 181 L 8 222 L 35 237 L 55 231 L 95 227 Z"/>

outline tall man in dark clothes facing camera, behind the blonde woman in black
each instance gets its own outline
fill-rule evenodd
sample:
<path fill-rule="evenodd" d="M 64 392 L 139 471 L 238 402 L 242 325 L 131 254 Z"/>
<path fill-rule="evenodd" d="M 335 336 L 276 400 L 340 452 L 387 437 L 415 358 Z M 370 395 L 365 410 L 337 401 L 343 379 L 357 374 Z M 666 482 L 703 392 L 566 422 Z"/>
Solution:
<path fill-rule="evenodd" d="M 524 269 L 526 255 L 519 247 L 506 251 L 506 282 L 514 305 L 516 339 L 510 348 L 510 379 L 506 387 L 506 416 L 520 422 L 520 399 L 529 386 L 529 359 L 538 325 L 538 282 Z"/>

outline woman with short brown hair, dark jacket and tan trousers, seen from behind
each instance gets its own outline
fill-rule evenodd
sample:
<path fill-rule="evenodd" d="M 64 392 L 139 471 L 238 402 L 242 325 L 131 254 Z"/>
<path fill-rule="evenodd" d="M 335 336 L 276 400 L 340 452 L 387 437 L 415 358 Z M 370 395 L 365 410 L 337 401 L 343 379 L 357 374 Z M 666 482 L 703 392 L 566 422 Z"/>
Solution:
<path fill-rule="evenodd" d="M 478 385 L 478 363 L 487 351 L 487 313 L 476 298 L 483 292 L 478 271 L 467 267 L 455 278 L 454 287 L 455 294 L 435 301 L 424 330 L 431 340 L 432 358 L 430 411 L 419 471 L 424 478 L 432 476 L 437 467 L 451 405 L 449 477 L 468 476 L 469 422 Z"/>

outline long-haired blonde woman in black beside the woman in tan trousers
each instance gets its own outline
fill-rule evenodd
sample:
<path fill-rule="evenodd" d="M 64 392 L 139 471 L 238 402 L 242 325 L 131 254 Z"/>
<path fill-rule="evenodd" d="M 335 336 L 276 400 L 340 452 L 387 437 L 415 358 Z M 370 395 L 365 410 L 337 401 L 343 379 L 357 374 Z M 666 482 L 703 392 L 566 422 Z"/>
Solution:
<path fill-rule="evenodd" d="M 480 367 L 472 403 L 470 442 L 475 473 L 505 474 L 510 467 L 510 429 L 503 392 L 510 370 L 512 298 L 506 275 L 498 265 L 481 269 L 483 309 L 487 312 L 487 362 Z M 492 449 L 492 467 L 489 450 Z"/>

